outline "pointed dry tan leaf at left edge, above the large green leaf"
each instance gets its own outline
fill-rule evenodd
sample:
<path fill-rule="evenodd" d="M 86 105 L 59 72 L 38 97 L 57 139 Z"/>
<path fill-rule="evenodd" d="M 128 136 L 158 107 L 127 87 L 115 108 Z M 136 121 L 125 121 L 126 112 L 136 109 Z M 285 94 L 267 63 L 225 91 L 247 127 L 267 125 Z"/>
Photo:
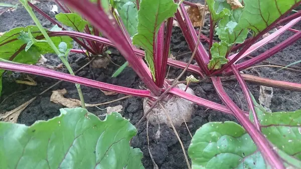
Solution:
<path fill-rule="evenodd" d="M 18 117 L 21 112 L 30 104 L 32 103 L 36 97 L 32 98 L 31 100 L 27 101 L 26 103 L 22 104 L 21 106 L 15 108 L 12 111 L 8 111 L 5 114 L 0 115 L 0 119 L 2 121 L 17 123 Z"/>

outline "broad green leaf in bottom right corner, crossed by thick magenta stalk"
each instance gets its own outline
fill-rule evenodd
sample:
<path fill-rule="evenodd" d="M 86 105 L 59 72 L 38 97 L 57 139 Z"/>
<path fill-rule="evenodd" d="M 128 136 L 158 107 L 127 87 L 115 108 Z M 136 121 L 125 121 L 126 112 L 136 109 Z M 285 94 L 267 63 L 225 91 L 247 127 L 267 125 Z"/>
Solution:
<path fill-rule="evenodd" d="M 301 110 L 268 113 L 253 98 L 261 132 L 273 144 L 286 168 L 301 168 Z M 253 121 L 253 114 L 250 113 Z M 200 127 L 188 149 L 192 168 L 270 168 L 249 134 L 234 122 Z"/>

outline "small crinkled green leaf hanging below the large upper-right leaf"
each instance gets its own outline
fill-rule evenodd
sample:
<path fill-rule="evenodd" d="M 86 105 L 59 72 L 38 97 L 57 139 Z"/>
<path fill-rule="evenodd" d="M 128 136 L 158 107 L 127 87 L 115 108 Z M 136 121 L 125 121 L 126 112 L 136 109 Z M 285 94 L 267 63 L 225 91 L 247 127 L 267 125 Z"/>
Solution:
<path fill-rule="evenodd" d="M 212 59 L 209 61 L 208 69 L 215 70 L 220 69 L 222 65 L 228 63 L 225 58 L 229 50 L 228 44 L 225 42 L 214 43 L 210 49 Z"/>

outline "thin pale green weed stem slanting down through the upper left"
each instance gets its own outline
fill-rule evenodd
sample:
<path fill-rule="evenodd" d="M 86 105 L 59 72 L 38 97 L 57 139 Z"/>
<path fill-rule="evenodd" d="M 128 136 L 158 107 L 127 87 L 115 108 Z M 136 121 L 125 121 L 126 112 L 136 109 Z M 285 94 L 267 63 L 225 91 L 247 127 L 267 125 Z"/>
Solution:
<path fill-rule="evenodd" d="M 36 17 L 35 13 L 32 11 L 31 7 L 28 5 L 28 0 L 20 0 L 21 4 L 25 7 L 25 9 L 27 10 L 27 12 L 29 13 L 29 15 L 31 16 L 31 18 L 33 19 L 33 21 L 36 23 L 37 27 L 39 28 L 39 30 L 41 31 L 41 33 L 43 34 L 43 36 L 45 37 L 45 39 L 47 40 L 48 44 L 50 45 L 50 47 L 54 50 L 54 52 L 58 55 L 61 56 L 61 52 L 59 51 L 59 49 L 55 46 L 55 44 L 52 42 L 52 40 L 50 39 L 50 37 L 48 36 L 47 32 L 45 31 L 45 29 L 43 28 L 43 26 L 41 25 L 40 21 L 38 20 L 38 18 Z M 66 66 L 66 68 L 68 69 L 69 73 L 71 75 L 74 76 L 74 72 L 70 66 L 70 64 L 68 63 L 68 61 L 62 56 L 59 57 L 63 64 Z M 81 105 L 83 108 L 86 108 L 85 105 L 85 101 L 84 101 L 84 96 L 83 93 L 80 89 L 80 85 L 79 84 L 75 84 L 76 88 L 77 88 L 77 92 L 79 94 L 79 98 L 81 101 Z"/>

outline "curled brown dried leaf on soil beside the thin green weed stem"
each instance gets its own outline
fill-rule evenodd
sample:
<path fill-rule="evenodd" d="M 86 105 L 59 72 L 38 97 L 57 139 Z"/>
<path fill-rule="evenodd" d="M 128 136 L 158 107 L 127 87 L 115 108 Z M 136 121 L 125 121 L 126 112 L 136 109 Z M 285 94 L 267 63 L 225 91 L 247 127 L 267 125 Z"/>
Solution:
<path fill-rule="evenodd" d="M 67 93 L 66 89 L 54 90 L 54 91 L 52 91 L 50 101 L 52 101 L 56 104 L 61 104 L 61 105 L 65 106 L 65 107 L 68 107 L 68 108 L 81 106 L 80 100 L 65 98 L 64 95 L 66 93 Z"/>

